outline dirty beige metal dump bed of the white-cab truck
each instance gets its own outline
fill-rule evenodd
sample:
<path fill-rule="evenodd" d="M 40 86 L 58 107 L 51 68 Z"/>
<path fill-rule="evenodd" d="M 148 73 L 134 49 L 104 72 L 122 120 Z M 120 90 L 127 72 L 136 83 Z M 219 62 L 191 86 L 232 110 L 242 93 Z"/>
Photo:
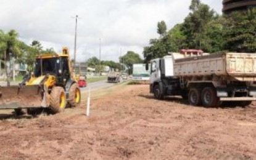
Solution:
<path fill-rule="evenodd" d="M 173 56 L 175 57 L 175 56 Z M 239 81 L 256 81 L 256 54 L 226 53 L 176 58 L 175 76 L 231 76 Z"/>

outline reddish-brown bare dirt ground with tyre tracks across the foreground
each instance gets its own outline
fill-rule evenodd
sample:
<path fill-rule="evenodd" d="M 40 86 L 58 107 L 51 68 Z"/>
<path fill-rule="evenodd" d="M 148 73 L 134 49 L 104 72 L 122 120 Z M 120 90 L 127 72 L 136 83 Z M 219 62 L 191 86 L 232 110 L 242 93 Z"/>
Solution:
<path fill-rule="evenodd" d="M 202 108 L 124 87 L 64 113 L 0 112 L 0 159 L 256 159 L 256 105 Z"/>

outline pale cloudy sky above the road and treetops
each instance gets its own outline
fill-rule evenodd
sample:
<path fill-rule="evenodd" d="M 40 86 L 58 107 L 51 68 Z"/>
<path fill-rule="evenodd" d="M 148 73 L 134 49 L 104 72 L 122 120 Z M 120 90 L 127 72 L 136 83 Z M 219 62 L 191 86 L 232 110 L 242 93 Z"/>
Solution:
<path fill-rule="evenodd" d="M 201 0 L 218 14 L 221 1 Z M 40 41 L 45 48 L 60 52 L 75 44 L 76 62 L 96 56 L 118 62 L 128 50 L 141 58 L 149 39 L 159 38 L 157 22 L 164 20 L 170 30 L 189 13 L 191 0 L 0 0 L 0 30 L 16 30 L 26 44 Z M 101 40 L 100 40 L 101 39 Z"/>

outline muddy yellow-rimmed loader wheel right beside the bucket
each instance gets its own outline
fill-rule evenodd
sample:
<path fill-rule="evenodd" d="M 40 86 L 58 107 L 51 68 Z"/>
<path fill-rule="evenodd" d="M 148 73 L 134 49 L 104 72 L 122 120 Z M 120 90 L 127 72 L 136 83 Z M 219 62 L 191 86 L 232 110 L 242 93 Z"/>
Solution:
<path fill-rule="evenodd" d="M 53 114 L 60 113 L 65 110 L 67 103 L 65 91 L 62 87 L 53 87 L 50 94 L 50 106 Z"/>

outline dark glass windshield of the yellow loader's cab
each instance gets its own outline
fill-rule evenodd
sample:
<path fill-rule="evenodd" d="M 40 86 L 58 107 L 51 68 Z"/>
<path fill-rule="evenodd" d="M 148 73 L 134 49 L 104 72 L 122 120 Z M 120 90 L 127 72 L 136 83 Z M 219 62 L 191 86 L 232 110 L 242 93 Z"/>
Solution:
<path fill-rule="evenodd" d="M 57 75 L 59 71 L 59 58 L 43 58 L 42 64 L 43 75 Z M 35 76 L 41 76 L 41 58 L 36 59 Z"/>

